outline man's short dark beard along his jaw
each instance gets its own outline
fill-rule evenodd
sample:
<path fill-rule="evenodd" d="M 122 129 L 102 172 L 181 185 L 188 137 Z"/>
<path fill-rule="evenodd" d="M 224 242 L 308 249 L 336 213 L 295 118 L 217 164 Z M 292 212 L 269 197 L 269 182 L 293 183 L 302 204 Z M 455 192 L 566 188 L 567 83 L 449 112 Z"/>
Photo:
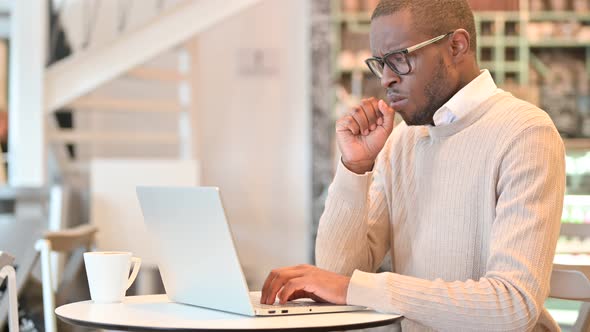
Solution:
<path fill-rule="evenodd" d="M 416 110 L 414 116 L 406 120 L 408 126 L 434 125 L 434 113 L 452 96 L 452 94 L 449 94 L 448 71 L 442 56 L 438 58 L 436 68 L 432 79 L 424 87 L 424 97 L 427 100 L 426 107 Z"/>

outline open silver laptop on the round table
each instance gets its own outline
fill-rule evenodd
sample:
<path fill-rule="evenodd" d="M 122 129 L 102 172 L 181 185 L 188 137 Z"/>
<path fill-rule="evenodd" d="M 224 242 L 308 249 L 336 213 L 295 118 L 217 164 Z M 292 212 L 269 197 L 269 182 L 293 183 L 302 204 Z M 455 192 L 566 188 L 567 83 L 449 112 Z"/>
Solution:
<path fill-rule="evenodd" d="M 247 316 L 367 309 L 310 299 L 260 304 L 260 292 L 248 290 L 216 187 L 139 186 L 137 197 L 166 294 L 174 302 Z"/>

